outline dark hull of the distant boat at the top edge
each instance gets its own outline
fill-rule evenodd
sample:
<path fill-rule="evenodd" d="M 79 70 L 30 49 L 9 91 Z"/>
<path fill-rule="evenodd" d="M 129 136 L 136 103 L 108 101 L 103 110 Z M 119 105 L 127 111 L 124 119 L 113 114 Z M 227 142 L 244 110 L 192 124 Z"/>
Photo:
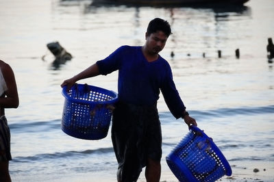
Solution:
<path fill-rule="evenodd" d="M 140 5 L 188 5 L 207 3 L 244 4 L 249 0 L 108 0 L 112 3 L 129 3 Z"/>

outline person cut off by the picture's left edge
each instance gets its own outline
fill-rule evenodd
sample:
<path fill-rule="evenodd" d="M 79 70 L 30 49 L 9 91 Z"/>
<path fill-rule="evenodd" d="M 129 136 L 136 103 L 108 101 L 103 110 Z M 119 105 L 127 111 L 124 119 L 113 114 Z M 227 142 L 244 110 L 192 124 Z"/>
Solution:
<path fill-rule="evenodd" d="M 10 154 L 10 128 L 5 118 L 5 108 L 19 104 L 16 81 L 12 68 L 0 60 L 0 181 L 11 181 L 8 170 Z"/>

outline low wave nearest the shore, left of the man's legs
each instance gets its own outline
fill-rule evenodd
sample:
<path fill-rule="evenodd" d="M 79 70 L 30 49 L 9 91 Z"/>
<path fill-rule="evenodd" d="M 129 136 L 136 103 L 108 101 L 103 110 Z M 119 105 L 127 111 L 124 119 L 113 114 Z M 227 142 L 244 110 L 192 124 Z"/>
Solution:
<path fill-rule="evenodd" d="M 12 161 L 14 162 L 29 162 L 29 161 L 40 161 L 40 160 L 51 160 L 51 159 L 61 159 L 66 157 L 86 157 L 86 155 L 91 155 L 95 153 L 112 153 L 113 148 L 98 148 L 95 150 L 86 151 L 67 151 L 64 153 L 42 153 L 34 156 L 27 157 L 14 157 Z"/>

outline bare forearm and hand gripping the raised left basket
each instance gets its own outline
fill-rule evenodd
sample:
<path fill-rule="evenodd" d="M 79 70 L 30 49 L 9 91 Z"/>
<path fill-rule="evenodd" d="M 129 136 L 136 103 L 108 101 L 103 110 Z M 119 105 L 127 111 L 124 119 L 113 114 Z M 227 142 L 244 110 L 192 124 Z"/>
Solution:
<path fill-rule="evenodd" d="M 74 77 L 63 81 L 61 87 L 67 86 L 67 90 L 69 90 L 75 84 L 76 81 L 79 81 L 80 79 L 86 79 L 89 77 L 96 77 L 99 74 L 100 72 L 97 64 L 92 64 L 92 66 L 86 68 L 86 70 L 83 70 L 78 75 L 75 75 Z"/>

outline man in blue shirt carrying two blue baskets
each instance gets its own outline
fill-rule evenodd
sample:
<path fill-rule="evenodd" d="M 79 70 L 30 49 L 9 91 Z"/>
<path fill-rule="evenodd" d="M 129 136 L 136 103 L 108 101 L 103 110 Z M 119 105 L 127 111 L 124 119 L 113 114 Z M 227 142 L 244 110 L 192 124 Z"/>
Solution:
<path fill-rule="evenodd" d="M 118 181 L 137 181 L 145 166 L 147 181 L 160 181 L 162 133 L 156 105 L 160 90 L 175 118 L 184 118 L 188 126 L 197 125 L 179 97 L 169 63 L 158 54 L 170 34 L 169 23 L 155 18 L 147 27 L 145 45 L 122 46 L 61 85 L 71 88 L 79 79 L 119 70 L 119 101 L 112 118 Z"/>

